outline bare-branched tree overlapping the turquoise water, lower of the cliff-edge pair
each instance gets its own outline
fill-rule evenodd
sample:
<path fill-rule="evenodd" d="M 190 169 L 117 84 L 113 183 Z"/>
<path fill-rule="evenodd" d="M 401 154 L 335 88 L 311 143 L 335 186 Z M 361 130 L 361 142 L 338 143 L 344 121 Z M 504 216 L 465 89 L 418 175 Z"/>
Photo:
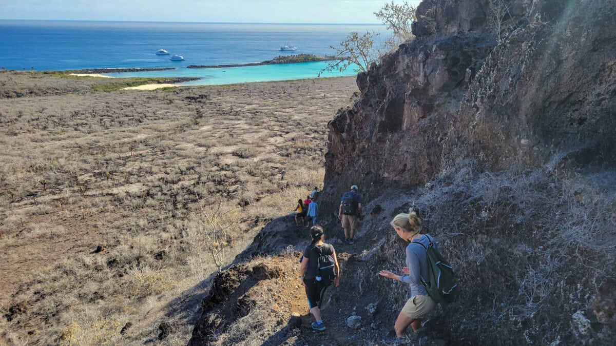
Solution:
<path fill-rule="evenodd" d="M 365 34 L 359 36 L 359 33 L 354 31 L 344 41 L 340 42 L 339 47 L 330 46 L 331 49 L 336 50 L 335 60 L 331 60 L 323 70 L 319 71 L 318 76 L 321 76 L 325 71 L 338 70 L 342 72 L 349 66 L 355 68 L 357 72 L 367 71 L 370 63 L 376 60 L 372 46 L 375 43 L 374 38 L 378 35 L 374 31 L 366 31 Z"/>

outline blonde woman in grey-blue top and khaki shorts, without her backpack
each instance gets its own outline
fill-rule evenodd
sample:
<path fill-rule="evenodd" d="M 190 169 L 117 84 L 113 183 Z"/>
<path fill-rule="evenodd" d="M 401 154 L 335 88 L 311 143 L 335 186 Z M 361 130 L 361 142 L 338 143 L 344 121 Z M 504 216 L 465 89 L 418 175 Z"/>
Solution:
<path fill-rule="evenodd" d="M 413 328 L 413 331 L 421 328 L 421 320 L 436 307 L 436 302 L 428 296 L 426 288 L 421 283 L 421 278 L 429 278 L 428 255 L 421 244 L 428 247 L 430 243 L 433 243 L 436 248 L 436 243 L 432 241 L 431 236 L 420 234 L 421 219 L 415 212 L 395 215 L 390 224 L 400 238 L 410 242 L 406 250 L 407 266 L 402 268 L 405 275 L 395 275 L 387 270 L 379 272 L 381 276 L 398 280 L 410 286 L 411 297 L 407 300 L 407 304 L 402 308 L 394 324 L 395 335 L 400 338 L 406 337 L 409 325 Z"/>

